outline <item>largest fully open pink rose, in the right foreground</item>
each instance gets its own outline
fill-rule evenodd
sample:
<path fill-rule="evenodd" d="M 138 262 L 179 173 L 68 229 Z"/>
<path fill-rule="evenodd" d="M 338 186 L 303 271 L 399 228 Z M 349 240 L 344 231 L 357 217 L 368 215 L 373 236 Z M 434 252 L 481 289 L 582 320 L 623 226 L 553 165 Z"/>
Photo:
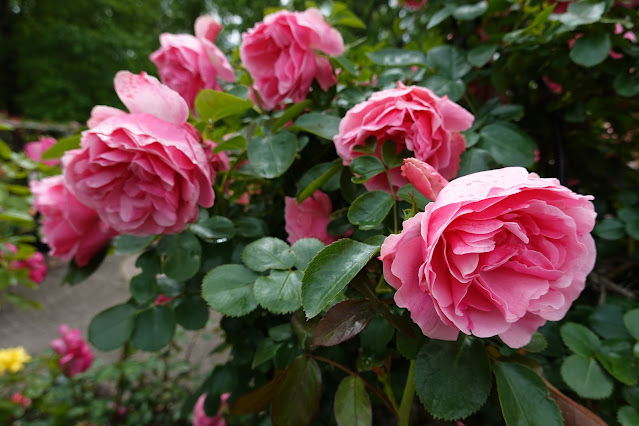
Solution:
<path fill-rule="evenodd" d="M 382 245 L 395 302 L 431 338 L 461 331 L 524 346 L 584 288 L 591 199 L 519 167 L 453 180 Z"/>

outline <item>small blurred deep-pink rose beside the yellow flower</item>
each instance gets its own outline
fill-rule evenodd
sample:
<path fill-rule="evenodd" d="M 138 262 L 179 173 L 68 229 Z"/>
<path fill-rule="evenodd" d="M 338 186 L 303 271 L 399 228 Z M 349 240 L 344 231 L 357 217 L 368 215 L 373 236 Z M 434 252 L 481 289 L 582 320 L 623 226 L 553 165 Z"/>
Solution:
<path fill-rule="evenodd" d="M 51 347 L 61 355 L 59 365 L 66 376 L 75 376 L 86 371 L 93 363 L 93 353 L 84 341 L 79 328 L 70 329 L 62 324 L 58 328 L 59 339 L 51 341 Z"/>

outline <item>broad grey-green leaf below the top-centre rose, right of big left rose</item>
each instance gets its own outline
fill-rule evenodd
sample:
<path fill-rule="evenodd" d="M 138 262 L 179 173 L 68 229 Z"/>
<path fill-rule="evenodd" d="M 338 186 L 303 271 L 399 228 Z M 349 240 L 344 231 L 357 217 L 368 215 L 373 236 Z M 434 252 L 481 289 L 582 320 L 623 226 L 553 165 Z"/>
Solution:
<path fill-rule="evenodd" d="M 287 131 L 249 139 L 248 160 L 257 176 L 272 179 L 282 175 L 293 164 L 297 138 Z"/>

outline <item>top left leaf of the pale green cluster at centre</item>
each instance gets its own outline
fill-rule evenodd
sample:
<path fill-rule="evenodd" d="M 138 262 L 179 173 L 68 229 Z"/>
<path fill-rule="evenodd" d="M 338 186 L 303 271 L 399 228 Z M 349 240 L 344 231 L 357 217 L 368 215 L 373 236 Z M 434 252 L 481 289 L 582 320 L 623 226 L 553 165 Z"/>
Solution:
<path fill-rule="evenodd" d="M 253 241 L 242 252 L 242 262 L 257 272 L 267 269 L 290 269 L 295 264 L 295 260 L 295 254 L 289 245 L 273 237 Z"/>

